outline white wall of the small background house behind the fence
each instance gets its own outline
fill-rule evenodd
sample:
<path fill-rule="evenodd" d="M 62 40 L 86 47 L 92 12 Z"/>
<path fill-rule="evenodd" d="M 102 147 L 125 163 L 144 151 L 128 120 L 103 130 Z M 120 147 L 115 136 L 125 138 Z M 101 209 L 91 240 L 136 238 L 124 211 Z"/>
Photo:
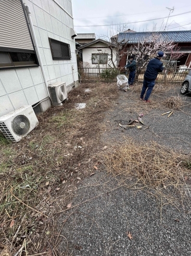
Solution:
<path fill-rule="evenodd" d="M 117 61 L 116 61 L 116 54 L 117 51 L 116 49 L 113 49 L 113 62 L 115 65 L 117 65 Z M 100 50 L 100 51 L 99 51 Z M 98 42 L 95 44 L 92 44 L 90 46 L 87 46 L 87 48 L 83 48 L 82 49 L 82 55 L 83 55 L 83 63 L 84 63 L 84 67 L 86 67 L 86 63 L 89 64 L 90 67 L 97 67 L 98 64 L 92 64 L 92 54 L 99 54 L 99 53 L 103 53 L 103 54 L 108 54 L 108 63 L 111 64 L 111 50 L 108 48 L 107 44 L 102 43 L 102 42 Z M 108 66 L 108 64 L 107 64 Z M 112 66 L 112 64 L 111 64 Z M 100 67 L 106 67 L 106 64 L 100 64 Z"/>

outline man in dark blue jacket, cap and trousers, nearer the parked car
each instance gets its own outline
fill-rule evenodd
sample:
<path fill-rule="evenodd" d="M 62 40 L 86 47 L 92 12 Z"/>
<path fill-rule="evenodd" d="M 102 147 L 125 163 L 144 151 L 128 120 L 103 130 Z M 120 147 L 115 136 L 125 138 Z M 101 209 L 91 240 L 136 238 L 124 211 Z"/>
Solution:
<path fill-rule="evenodd" d="M 149 96 L 155 86 L 155 79 L 157 78 L 158 73 L 163 71 L 164 67 L 162 62 L 160 61 L 163 55 L 163 52 L 158 52 L 157 56 L 154 59 L 150 60 L 147 64 L 147 68 L 144 74 L 143 88 L 140 97 L 140 100 L 144 99 L 144 102 L 150 102 Z M 145 91 L 146 95 L 144 98 Z"/>

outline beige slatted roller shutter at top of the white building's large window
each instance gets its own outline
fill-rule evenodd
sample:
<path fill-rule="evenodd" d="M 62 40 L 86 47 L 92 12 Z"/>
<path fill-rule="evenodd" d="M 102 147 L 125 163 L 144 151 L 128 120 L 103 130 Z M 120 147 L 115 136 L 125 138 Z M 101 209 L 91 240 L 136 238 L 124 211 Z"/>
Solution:
<path fill-rule="evenodd" d="M 20 0 L 0 0 L 0 47 L 34 50 Z"/>

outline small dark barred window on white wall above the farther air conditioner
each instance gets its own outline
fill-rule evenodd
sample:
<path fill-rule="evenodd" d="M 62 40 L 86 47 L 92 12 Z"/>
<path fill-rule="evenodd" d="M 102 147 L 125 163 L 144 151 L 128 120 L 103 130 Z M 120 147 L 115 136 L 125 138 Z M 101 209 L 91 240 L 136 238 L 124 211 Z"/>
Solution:
<path fill-rule="evenodd" d="M 49 39 L 50 50 L 52 52 L 53 60 L 70 60 L 70 44 L 57 41 L 52 38 Z"/>

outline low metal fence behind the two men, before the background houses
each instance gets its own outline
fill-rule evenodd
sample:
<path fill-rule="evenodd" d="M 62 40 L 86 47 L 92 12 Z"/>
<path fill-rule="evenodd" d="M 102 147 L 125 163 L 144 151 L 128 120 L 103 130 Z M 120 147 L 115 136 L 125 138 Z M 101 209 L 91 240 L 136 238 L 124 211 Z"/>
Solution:
<path fill-rule="evenodd" d="M 170 68 L 164 69 L 162 73 L 159 73 L 157 76 L 158 82 L 183 82 L 186 75 L 189 73 L 191 68 Z M 83 80 L 117 80 L 117 75 L 125 75 L 125 70 L 121 68 L 98 68 L 98 67 L 87 67 L 87 68 L 78 68 L 79 79 Z M 136 74 L 136 79 L 138 81 L 143 81 L 145 69 L 143 69 L 139 74 Z M 137 77 L 138 75 L 138 77 Z M 129 76 L 129 71 L 126 74 Z"/>

